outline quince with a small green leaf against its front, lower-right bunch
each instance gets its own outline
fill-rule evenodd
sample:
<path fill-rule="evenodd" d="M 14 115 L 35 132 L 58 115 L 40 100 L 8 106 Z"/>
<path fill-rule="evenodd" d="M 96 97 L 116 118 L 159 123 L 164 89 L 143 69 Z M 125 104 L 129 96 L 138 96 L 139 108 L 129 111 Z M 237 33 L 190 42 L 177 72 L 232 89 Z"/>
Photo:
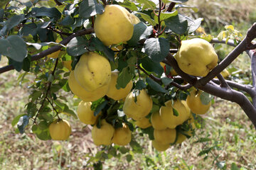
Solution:
<path fill-rule="evenodd" d="M 164 104 L 165 106 L 161 106 L 160 108 L 160 117 L 168 128 L 176 128 L 177 125 L 181 125 L 188 120 L 190 111 L 188 106 L 186 106 L 186 102 L 176 100 L 174 101 L 174 104 L 172 104 L 172 101 L 170 100 L 166 101 Z M 178 116 L 174 115 L 173 108 L 178 111 Z"/>

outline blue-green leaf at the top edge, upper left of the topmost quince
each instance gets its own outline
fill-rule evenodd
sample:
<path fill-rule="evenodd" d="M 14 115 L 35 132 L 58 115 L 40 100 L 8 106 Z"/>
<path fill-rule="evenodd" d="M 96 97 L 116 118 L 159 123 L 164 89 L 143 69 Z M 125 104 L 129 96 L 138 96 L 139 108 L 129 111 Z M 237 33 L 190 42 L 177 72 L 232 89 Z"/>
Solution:
<path fill-rule="evenodd" d="M 79 16 L 89 18 L 96 14 L 102 14 L 105 9 L 102 4 L 98 4 L 96 0 L 83 0 L 79 6 Z"/>

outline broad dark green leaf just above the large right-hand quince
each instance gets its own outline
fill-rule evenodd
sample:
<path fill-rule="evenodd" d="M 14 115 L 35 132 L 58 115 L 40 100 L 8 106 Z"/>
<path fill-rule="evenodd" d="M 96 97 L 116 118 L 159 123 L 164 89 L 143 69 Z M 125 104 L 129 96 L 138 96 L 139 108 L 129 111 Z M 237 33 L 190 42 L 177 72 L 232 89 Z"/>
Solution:
<path fill-rule="evenodd" d="M 166 19 L 166 31 L 173 31 L 176 34 L 186 33 L 188 28 L 188 21 L 185 17 L 178 14 L 177 16 L 172 16 L 171 18 Z"/>

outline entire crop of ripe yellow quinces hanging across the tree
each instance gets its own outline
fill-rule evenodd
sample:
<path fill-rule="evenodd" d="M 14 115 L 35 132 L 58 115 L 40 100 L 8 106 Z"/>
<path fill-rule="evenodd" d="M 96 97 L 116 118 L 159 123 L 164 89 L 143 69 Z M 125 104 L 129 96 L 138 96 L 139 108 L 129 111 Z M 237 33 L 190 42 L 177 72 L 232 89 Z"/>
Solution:
<path fill-rule="evenodd" d="M 132 38 L 136 23 L 139 23 L 139 18 L 122 6 L 107 5 L 105 12 L 97 15 L 95 19 L 95 34 L 107 46 L 125 43 Z M 198 38 L 183 40 L 175 57 L 183 72 L 198 77 L 206 76 L 218 62 L 209 42 Z M 166 72 L 166 66 L 162 66 Z M 91 110 L 92 101 L 97 101 L 103 96 L 116 101 L 124 100 L 123 111 L 127 118 L 135 120 L 137 127 L 145 129 L 152 125 L 152 145 L 159 151 L 164 151 L 170 144 L 181 143 L 191 136 L 195 128 L 192 113 L 204 114 L 210 108 L 210 103 L 204 105 L 201 102 L 201 91 L 193 89 L 186 101 L 166 101 L 165 106 L 161 106 L 158 112 L 151 113 L 148 118 L 153 106 L 149 94 L 145 89 L 131 91 L 132 81 L 124 89 L 117 89 L 118 74 L 111 71 L 110 62 L 97 52 L 83 54 L 75 69 L 70 72 L 70 90 L 82 100 L 78 105 L 78 118 L 82 123 L 93 125 L 92 140 L 95 145 L 127 145 L 132 139 L 132 132 L 127 124 L 122 123 L 121 128 L 114 128 L 112 123 L 100 118 L 101 113 L 95 115 Z M 171 74 L 177 75 L 174 70 Z M 191 130 L 176 130 L 183 123 L 191 125 Z M 71 132 L 66 120 L 55 120 L 49 130 L 53 140 L 67 140 Z"/>

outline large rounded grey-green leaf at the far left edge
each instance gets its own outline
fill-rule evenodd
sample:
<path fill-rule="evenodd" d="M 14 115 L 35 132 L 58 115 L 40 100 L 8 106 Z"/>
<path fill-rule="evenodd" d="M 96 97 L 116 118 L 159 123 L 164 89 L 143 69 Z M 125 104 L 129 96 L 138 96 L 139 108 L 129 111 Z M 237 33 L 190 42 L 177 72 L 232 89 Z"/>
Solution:
<path fill-rule="evenodd" d="M 27 55 L 26 42 L 18 35 L 0 39 L 0 54 L 10 57 L 16 62 L 22 62 Z"/>

